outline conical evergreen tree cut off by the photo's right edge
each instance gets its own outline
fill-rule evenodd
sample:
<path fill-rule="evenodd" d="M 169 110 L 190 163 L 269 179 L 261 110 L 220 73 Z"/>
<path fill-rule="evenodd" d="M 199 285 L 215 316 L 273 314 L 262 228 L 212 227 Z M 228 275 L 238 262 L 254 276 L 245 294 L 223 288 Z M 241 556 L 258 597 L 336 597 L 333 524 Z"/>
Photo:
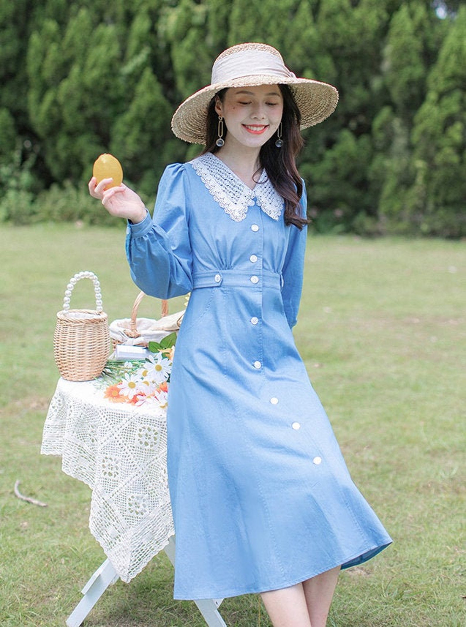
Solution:
<path fill-rule="evenodd" d="M 413 130 L 416 179 L 410 208 L 426 234 L 464 236 L 466 216 L 466 7 L 452 23 L 428 77 Z"/>

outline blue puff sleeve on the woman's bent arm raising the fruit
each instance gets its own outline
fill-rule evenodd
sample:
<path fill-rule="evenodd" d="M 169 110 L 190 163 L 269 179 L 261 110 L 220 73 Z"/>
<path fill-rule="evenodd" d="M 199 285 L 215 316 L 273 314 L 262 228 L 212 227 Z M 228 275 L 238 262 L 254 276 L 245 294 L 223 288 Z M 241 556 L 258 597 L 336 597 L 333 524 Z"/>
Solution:
<path fill-rule="evenodd" d="M 127 228 L 131 277 L 141 290 L 156 298 L 180 296 L 193 287 L 187 198 L 184 164 L 167 166 L 159 183 L 154 217 L 147 214 L 142 222 Z"/>

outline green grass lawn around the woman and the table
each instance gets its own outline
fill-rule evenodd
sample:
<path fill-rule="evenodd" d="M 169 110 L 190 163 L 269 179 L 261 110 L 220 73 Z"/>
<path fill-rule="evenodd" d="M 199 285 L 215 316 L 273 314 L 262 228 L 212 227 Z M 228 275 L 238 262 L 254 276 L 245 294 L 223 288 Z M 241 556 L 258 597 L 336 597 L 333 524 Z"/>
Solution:
<path fill-rule="evenodd" d="M 52 337 L 69 278 L 93 270 L 109 319 L 137 295 L 124 229 L 45 225 L 0 229 L 0 624 L 65 624 L 105 556 L 88 531 L 90 492 L 40 455 L 58 371 Z M 295 339 L 352 477 L 394 544 L 344 572 L 329 627 L 466 624 L 466 248 L 435 240 L 312 237 Z M 85 285 L 88 283 L 88 285 Z M 82 285 L 81 285 L 82 284 Z M 73 307 L 92 307 L 90 282 Z M 171 303 L 181 308 L 183 298 Z M 140 315 L 158 317 L 160 303 Z M 41 508 L 14 496 L 16 480 Z M 270 625 L 257 596 L 227 599 L 229 627 Z M 204 622 L 172 600 L 159 554 L 119 581 L 85 621 L 92 627 Z"/>

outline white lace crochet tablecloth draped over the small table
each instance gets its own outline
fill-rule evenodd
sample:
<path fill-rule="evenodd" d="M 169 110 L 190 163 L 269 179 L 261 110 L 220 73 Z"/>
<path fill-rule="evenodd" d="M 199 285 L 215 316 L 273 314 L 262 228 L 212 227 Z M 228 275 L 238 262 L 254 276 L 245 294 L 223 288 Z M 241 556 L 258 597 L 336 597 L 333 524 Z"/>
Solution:
<path fill-rule="evenodd" d="M 41 453 L 92 489 L 89 528 L 123 581 L 174 534 L 167 484 L 166 410 L 111 403 L 93 382 L 60 379 Z"/>

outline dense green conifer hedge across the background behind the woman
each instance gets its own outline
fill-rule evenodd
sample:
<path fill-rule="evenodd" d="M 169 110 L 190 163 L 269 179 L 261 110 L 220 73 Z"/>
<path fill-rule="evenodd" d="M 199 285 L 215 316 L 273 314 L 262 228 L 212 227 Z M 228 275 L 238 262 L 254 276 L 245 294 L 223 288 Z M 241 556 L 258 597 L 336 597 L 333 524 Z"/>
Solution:
<path fill-rule="evenodd" d="M 466 6 L 431 0 L 0 0 L 0 221 L 105 221 L 101 152 L 152 203 L 177 104 L 226 46 L 266 41 L 338 88 L 304 132 L 319 231 L 466 235 Z"/>

